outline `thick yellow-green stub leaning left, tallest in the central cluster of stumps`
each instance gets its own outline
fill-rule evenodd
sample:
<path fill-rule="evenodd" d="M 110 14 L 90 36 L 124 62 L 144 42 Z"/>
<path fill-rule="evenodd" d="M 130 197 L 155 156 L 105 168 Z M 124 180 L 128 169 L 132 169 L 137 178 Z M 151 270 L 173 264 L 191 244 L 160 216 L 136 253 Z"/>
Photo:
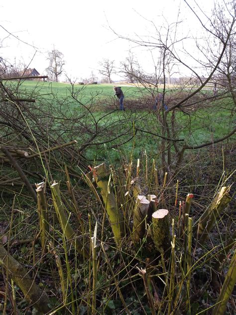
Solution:
<path fill-rule="evenodd" d="M 105 163 L 94 167 L 93 174 L 98 187 L 101 189 L 101 195 L 112 226 L 114 237 L 117 242 L 120 242 L 124 237 L 124 219 L 122 213 L 118 209 L 118 204 L 109 182 L 109 175 L 107 174 Z"/>

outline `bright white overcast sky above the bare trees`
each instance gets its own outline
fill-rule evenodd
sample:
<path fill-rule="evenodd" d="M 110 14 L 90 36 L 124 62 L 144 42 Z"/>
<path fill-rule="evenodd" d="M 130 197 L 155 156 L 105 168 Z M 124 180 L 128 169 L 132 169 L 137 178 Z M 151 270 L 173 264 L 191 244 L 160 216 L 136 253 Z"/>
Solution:
<path fill-rule="evenodd" d="M 198 10 L 194 0 L 189 2 Z M 211 12 L 213 0 L 197 3 Z M 48 66 L 47 51 L 55 47 L 65 56 L 68 76 L 79 79 L 89 77 L 91 71 L 96 73 L 103 58 L 116 60 L 118 66 L 133 47 L 118 39 L 109 24 L 125 36 L 145 35 L 153 31 L 146 19 L 159 27 L 164 25 L 162 14 L 170 24 L 176 21 L 178 12 L 183 19 L 179 32 L 184 35 L 196 31 L 197 20 L 184 0 L 5 0 L 0 1 L 0 25 L 37 47 L 30 67 L 43 73 Z M 4 39 L 0 56 L 11 63 L 15 59 L 16 63 L 29 64 L 35 54 L 33 47 L 8 36 L 3 28 L 0 39 Z M 134 52 L 144 68 L 150 67 L 152 61 L 145 49 Z"/>

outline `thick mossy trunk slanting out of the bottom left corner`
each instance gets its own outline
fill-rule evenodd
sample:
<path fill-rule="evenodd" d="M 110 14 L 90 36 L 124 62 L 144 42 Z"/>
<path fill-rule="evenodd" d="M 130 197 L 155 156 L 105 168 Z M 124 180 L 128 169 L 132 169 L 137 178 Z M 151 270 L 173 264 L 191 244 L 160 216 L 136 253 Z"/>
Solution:
<path fill-rule="evenodd" d="M 30 278 L 28 270 L 8 254 L 2 245 L 0 245 L 0 265 L 8 269 L 10 277 L 23 292 L 30 305 L 33 305 L 42 314 L 50 311 L 47 294 Z"/>

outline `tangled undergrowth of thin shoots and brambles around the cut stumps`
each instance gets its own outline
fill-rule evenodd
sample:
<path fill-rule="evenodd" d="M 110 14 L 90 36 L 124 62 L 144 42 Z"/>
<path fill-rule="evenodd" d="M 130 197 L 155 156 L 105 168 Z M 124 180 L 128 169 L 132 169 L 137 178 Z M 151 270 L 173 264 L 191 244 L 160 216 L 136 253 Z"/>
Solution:
<path fill-rule="evenodd" d="M 24 188 L 5 189 L 0 213 L 2 243 L 47 294 L 48 314 L 215 314 L 212 312 L 219 303 L 217 298 L 235 246 L 232 150 L 225 149 L 222 153 L 220 149 L 211 162 L 204 156 L 195 157 L 194 162 L 186 163 L 175 178 L 168 178 L 168 174 L 164 178 L 156 162 L 145 155 L 140 160 L 139 170 L 130 155 L 128 160 L 122 156 L 119 167 L 110 165 L 107 180 L 111 191 L 108 193 L 114 193 L 126 226 L 125 236 L 119 241 L 114 239 L 105 211 L 107 204 L 102 200 L 101 188 L 94 181 L 95 175 L 86 177 L 78 168 L 80 178 L 68 177 L 66 171 L 61 177 L 61 204 L 66 215 L 64 227 L 50 189 L 52 181 L 45 178 L 48 230 L 44 247 L 38 206 Z M 222 153 L 223 161 L 219 153 Z M 164 251 L 157 249 L 150 240 L 148 226 L 151 222 L 148 223 L 146 218 L 142 238 L 137 242 L 133 240 L 136 195 L 132 186 L 137 175 L 139 194 L 154 194 L 157 208 L 169 210 L 171 245 Z M 70 182 L 72 190 L 65 185 L 66 181 Z M 231 201 L 219 214 L 206 240 L 201 241 L 197 231 L 199 218 L 223 186 L 229 187 Z M 15 197 L 10 201 L 12 192 Z M 182 225 L 181 211 L 184 211 L 187 194 L 192 193 L 189 212 L 192 229 L 187 232 L 186 225 Z M 75 232 L 72 238 L 66 236 L 68 225 Z M 89 249 L 89 259 L 78 252 L 73 240 L 82 242 L 84 248 Z M 91 247 L 91 244 L 96 246 Z M 95 253 L 92 255 L 93 249 Z M 216 270 L 217 262 L 220 266 Z M 1 311 L 33 314 L 34 306 L 22 300 L 22 291 L 11 274 L 7 274 L 6 267 L 2 265 L 0 276 Z M 224 314 L 234 314 L 234 311 L 233 295 Z"/>

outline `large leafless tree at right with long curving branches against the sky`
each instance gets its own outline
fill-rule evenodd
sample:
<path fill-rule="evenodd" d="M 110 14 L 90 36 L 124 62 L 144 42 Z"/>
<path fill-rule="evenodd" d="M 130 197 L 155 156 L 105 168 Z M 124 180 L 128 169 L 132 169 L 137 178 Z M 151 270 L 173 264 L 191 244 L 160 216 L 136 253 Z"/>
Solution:
<path fill-rule="evenodd" d="M 156 115 L 150 116 L 150 124 L 142 129 L 137 127 L 137 130 L 142 134 L 151 134 L 161 139 L 158 151 L 161 153 L 163 170 L 170 172 L 173 170 L 174 173 L 183 160 L 186 150 L 198 150 L 219 143 L 231 137 L 236 131 L 230 115 L 232 107 L 235 106 L 233 91 L 235 8 L 232 9 L 225 2 L 224 8 L 215 5 L 209 17 L 201 7 L 198 7 L 198 13 L 196 13 L 196 9 L 189 4 L 189 1 L 185 0 L 185 3 L 193 14 L 193 18 L 196 18 L 196 23 L 199 23 L 201 27 L 201 37 L 198 39 L 194 34 L 190 38 L 189 33 L 181 38 L 178 32 L 180 22 L 168 24 L 166 19 L 165 25 L 161 27 L 150 21 L 155 34 L 128 38 L 115 32 L 120 38 L 146 47 L 151 53 L 154 64 L 152 76 L 133 65 L 133 55 L 126 60 L 126 64 L 124 63 L 124 71 L 131 78 L 130 81 L 136 80 L 141 83 L 142 95 L 149 93 L 153 97 L 160 89 L 163 93 L 161 102 L 163 106 L 159 107 Z M 223 14 L 224 12 L 227 16 Z M 213 22 L 214 19 L 215 22 Z M 200 33 L 200 30 L 198 32 Z M 195 45 L 195 49 L 189 48 L 190 40 Z M 155 58 L 152 55 L 154 49 Z M 183 73 L 188 73 L 189 78 L 170 91 L 166 83 L 169 81 L 170 73 L 177 71 L 179 77 L 183 76 Z M 221 93 L 218 93 L 217 99 L 221 100 L 218 103 L 212 92 L 209 93 L 211 89 L 209 90 L 208 86 L 212 86 L 214 76 L 220 73 L 228 82 L 228 88 L 226 86 Z M 156 80 L 150 80 L 153 77 Z M 160 78 L 163 78 L 163 85 L 160 85 Z M 164 109 L 166 104 L 167 110 Z M 222 118 L 222 123 L 225 123 L 225 134 L 218 139 L 211 128 L 214 118 L 211 120 L 209 115 L 207 121 L 204 116 L 200 121 L 198 110 L 204 108 L 210 113 L 213 108 L 216 110 L 216 106 L 219 106 L 220 109 L 223 104 L 224 108 L 229 110 L 229 118 L 227 124 Z M 180 125 L 178 120 L 183 115 L 185 116 L 184 124 Z M 196 120 L 199 124 L 197 132 L 192 128 Z M 202 141 L 197 140 L 199 129 L 202 129 L 201 133 L 204 134 Z"/>

